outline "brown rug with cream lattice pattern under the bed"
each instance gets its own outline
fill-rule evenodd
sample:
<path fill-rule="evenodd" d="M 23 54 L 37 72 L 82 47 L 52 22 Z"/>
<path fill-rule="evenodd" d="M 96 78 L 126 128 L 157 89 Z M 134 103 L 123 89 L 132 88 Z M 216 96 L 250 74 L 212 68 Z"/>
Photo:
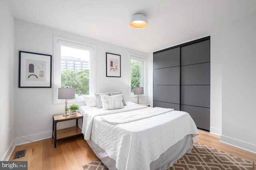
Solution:
<path fill-rule="evenodd" d="M 194 142 L 191 152 L 184 154 L 168 170 L 253 170 L 253 166 L 254 162 Z M 100 160 L 86 164 L 83 168 L 84 170 L 108 170 Z"/>

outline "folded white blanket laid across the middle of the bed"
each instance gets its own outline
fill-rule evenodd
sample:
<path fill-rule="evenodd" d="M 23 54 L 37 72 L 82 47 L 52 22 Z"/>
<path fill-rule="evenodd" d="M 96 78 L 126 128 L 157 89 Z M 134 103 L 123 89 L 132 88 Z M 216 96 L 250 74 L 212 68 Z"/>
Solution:
<path fill-rule="evenodd" d="M 128 123 L 128 122 L 137 121 L 141 119 L 146 119 L 148 117 L 160 115 L 173 110 L 174 109 L 166 109 L 161 107 L 154 107 L 154 108 L 148 107 L 145 109 L 140 109 L 139 111 L 136 111 L 136 112 L 134 111 L 122 112 L 121 116 L 118 114 L 106 115 L 104 117 L 101 117 L 101 119 L 111 124 L 122 124 L 122 123 Z"/>

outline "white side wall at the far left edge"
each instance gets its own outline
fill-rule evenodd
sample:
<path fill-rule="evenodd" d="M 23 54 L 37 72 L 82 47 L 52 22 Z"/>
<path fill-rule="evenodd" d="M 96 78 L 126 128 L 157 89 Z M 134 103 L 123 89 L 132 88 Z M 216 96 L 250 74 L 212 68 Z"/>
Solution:
<path fill-rule="evenodd" d="M 0 160 L 6 160 L 14 136 L 14 18 L 6 0 L 0 0 Z"/>

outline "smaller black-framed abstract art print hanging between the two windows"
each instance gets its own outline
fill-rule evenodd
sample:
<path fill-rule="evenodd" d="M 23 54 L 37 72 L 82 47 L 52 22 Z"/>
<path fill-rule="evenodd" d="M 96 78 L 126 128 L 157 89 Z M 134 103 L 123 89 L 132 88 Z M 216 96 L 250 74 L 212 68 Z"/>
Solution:
<path fill-rule="evenodd" d="M 121 77 L 121 55 L 106 53 L 106 76 Z"/>

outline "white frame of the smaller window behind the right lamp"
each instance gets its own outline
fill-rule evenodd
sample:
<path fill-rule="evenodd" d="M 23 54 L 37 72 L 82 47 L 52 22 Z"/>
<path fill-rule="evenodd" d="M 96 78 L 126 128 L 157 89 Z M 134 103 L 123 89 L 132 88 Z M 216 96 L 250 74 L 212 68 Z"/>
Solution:
<path fill-rule="evenodd" d="M 144 62 L 144 94 L 141 94 L 140 97 L 148 96 L 148 58 L 143 57 L 140 55 L 129 54 L 129 91 L 128 91 L 128 98 L 136 98 L 138 95 L 131 93 L 131 86 L 132 86 L 132 70 L 131 70 L 131 60 L 138 60 Z"/>

